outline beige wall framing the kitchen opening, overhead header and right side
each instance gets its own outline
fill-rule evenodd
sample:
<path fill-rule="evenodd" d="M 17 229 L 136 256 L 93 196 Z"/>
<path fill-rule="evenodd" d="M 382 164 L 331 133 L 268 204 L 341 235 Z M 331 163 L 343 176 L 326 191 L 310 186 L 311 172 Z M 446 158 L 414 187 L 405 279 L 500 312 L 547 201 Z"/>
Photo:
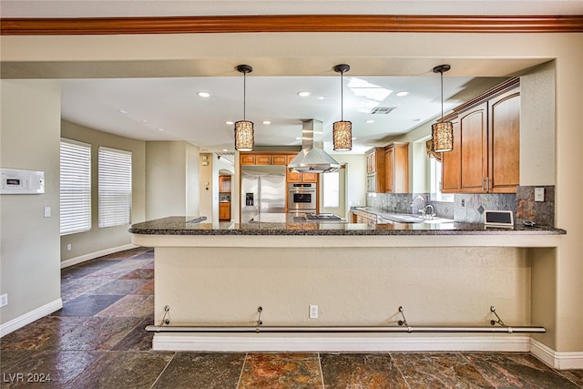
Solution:
<path fill-rule="evenodd" d="M 402 64 L 393 67 L 395 72 L 422 74 L 430 71 L 429 64 L 449 62 L 453 65 L 452 76 L 500 77 L 515 75 L 503 74 L 505 68 L 526 72 L 524 69 L 557 59 L 556 222 L 568 234 L 551 255 L 557 263 L 556 279 L 549 281 L 556 285 L 556 327 L 552 342 L 545 342 L 558 352 L 583 351 L 583 302 L 579 297 L 583 295 L 583 175 L 578 171 L 583 166 L 583 50 L 578 49 L 583 46 L 583 34 L 274 33 L 2 36 L 0 40 L 3 61 L 21 61 L 12 65 L 23 77 L 87 77 L 89 73 L 91 77 L 164 77 L 179 72 L 184 75 L 187 68 L 189 75 L 207 76 L 232 71 L 241 58 L 261 76 L 322 74 L 339 61 L 350 59 L 354 74 L 361 73 L 360 68 L 366 69 L 363 73 L 382 75 L 395 61 Z M 144 66 L 152 58 L 164 67 Z M 43 61 L 47 61 L 46 67 Z M 60 66 L 52 66 L 51 61 L 61 61 Z M 552 132 L 551 128 L 547 130 Z M 539 254 L 531 255 L 537 263 Z"/>

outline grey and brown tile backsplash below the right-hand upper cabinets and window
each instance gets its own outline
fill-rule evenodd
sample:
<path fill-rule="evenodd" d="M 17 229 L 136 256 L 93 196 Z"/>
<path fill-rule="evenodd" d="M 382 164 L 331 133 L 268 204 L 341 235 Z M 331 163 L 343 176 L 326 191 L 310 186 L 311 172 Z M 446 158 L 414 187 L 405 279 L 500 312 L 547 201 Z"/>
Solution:
<path fill-rule="evenodd" d="M 483 223 L 484 210 L 512 210 L 516 219 L 533 220 L 538 224 L 555 225 L 555 187 L 545 189 L 545 199 L 535 201 L 535 187 L 518 187 L 517 194 L 455 194 L 454 202 L 431 201 L 435 214 L 446 219 L 464 223 Z M 429 193 L 371 193 L 366 198 L 366 206 L 383 212 L 417 213 L 423 201 L 415 200 L 417 195 L 429 199 Z"/>

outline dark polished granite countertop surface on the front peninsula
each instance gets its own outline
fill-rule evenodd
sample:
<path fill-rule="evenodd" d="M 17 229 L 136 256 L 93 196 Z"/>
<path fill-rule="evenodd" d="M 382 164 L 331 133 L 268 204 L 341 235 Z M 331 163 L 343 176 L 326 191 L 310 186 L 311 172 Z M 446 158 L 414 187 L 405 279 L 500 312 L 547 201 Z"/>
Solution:
<path fill-rule="evenodd" d="M 147 235 L 560 235 L 561 230 L 547 226 L 527 227 L 518 223 L 513 229 L 486 228 L 469 223 L 347 223 L 345 221 L 205 223 L 206 217 L 174 216 L 132 225 L 129 232 Z"/>

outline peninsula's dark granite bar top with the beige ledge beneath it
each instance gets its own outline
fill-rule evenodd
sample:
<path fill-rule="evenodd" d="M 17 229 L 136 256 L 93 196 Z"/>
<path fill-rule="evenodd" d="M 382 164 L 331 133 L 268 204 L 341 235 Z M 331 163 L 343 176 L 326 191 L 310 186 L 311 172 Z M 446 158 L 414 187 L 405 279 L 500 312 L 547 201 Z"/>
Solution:
<path fill-rule="evenodd" d="M 468 223 L 348 223 L 345 221 L 296 222 L 197 222 L 197 218 L 169 217 L 132 225 L 135 244 L 198 246 L 209 239 L 221 239 L 221 245 L 245 247 L 275 244 L 278 247 L 297 246 L 292 237 L 310 237 L 314 247 L 557 247 L 566 230 L 552 227 L 486 228 Z M 206 238 L 206 240 L 202 240 Z M 227 239 L 228 238 L 228 239 Z M 269 240 L 268 240 L 269 238 Z M 279 239 L 277 239 L 279 238 Z M 278 243 L 274 243 L 275 241 Z M 178 243 L 179 242 L 179 243 Z M 204 243 L 203 243 L 204 242 Z"/>

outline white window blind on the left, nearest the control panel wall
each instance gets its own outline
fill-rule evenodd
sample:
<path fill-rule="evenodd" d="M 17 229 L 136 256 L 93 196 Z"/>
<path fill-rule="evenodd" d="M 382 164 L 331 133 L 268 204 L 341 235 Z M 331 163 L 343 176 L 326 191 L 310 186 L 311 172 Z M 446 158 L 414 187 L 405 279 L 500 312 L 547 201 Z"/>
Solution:
<path fill-rule="evenodd" d="M 91 145 L 61 139 L 61 235 L 91 230 Z"/>

